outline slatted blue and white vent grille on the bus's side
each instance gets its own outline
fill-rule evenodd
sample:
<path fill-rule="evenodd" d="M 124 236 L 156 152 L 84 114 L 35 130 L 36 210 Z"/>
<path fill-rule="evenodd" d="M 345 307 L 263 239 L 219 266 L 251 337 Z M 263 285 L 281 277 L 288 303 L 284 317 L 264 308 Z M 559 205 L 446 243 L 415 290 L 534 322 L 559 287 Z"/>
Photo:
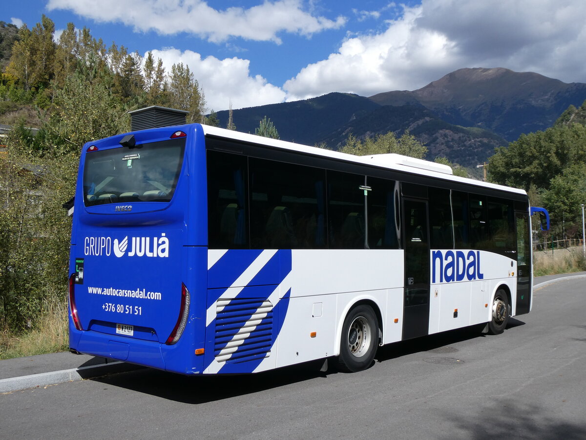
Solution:
<path fill-rule="evenodd" d="M 214 356 L 240 363 L 268 357 L 272 345 L 272 304 L 262 298 L 219 299 Z"/>

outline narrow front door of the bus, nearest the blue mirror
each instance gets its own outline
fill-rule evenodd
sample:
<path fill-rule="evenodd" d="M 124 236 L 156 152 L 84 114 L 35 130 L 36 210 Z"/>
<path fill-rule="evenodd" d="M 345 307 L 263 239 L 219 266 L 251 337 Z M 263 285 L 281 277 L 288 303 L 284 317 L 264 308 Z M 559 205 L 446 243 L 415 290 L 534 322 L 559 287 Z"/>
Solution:
<path fill-rule="evenodd" d="M 530 235 L 527 212 L 515 212 L 517 228 L 517 307 L 515 314 L 529 313 L 531 264 Z"/>

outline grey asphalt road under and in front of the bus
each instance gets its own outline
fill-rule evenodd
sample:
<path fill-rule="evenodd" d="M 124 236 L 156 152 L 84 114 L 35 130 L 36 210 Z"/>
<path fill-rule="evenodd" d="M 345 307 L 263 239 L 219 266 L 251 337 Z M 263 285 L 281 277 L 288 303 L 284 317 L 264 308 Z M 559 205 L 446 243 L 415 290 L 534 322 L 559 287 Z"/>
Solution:
<path fill-rule="evenodd" d="M 499 336 L 379 349 L 353 374 L 143 369 L 0 395 L 1 439 L 586 439 L 586 279 L 537 290 Z"/>

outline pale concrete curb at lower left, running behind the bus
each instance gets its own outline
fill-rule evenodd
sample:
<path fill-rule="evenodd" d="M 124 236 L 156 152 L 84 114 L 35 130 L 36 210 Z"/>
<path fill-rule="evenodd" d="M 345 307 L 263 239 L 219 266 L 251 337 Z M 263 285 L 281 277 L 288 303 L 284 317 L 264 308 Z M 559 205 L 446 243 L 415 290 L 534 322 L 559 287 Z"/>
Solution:
<path fill-rule="evenodd" d="M 144 367 L 125 362 L 111 362 L 100 365 L 89 365 L 88 367 L 70 368 L 69 370 L 49 371 L 49 373 L 9 377 L 0 379 L 0 393 L 26 390 L 27 388 L 46 387 L 47 385 L 62 384 L 74 380 L 122 373 L 124 371 L 136 370 L 137 368 Z"/>

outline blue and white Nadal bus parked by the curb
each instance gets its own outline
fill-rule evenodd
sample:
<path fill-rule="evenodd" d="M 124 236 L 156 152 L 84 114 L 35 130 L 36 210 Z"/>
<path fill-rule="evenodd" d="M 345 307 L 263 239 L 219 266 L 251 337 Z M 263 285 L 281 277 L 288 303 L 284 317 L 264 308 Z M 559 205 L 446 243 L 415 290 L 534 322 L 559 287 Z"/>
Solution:
<path fill-rule="evenodd" d="M 532 307 L 526 192 L 200 124 L 84 145 L 70 347 L 182 374 L 331 359 Z"/>

